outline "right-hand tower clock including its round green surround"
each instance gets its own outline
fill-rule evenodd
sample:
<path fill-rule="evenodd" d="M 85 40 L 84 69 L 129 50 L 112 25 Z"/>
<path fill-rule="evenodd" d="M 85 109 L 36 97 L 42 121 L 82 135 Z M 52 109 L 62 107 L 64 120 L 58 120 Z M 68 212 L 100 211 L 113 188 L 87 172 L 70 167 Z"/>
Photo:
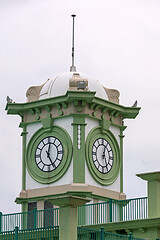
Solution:
<path fill-rule="evenodd" d="M 92 177 L 101 185 L 111 185 L 121 169 L 119 144 L 110 130 L 93 128 L 86 139 L 86 162 Z"/>

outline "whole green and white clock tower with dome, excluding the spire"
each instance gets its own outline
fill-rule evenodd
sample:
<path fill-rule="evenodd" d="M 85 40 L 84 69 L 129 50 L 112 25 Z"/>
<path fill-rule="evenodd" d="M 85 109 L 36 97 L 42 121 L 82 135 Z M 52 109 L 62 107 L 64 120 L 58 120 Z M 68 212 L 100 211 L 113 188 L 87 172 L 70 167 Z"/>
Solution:
<path fill-rule="evenodd" d="M 125 199 L 123 120 L 138 107 L 119 104 L 119 92 L 90 76 L 66 72 L 27 90 L 26 103 L 8 103 L 21 116 L 22 211 L 52 207 L 71 194 L 92 203 Z"/>

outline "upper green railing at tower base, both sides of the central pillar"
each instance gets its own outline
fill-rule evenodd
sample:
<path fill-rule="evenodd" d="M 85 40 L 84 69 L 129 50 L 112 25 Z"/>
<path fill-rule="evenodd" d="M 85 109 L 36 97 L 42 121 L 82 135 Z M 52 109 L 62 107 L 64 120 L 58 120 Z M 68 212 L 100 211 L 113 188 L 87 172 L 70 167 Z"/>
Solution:
<path fill-rule="evenodd" d="M 148 217 L 148 199 L 109 200 L 78 207 L 78 225 L 145 219 Z M 0 232 L 54 227 L 59 225 L 59 209 L 37 210 L 23 213 L 0 213 Z"/>

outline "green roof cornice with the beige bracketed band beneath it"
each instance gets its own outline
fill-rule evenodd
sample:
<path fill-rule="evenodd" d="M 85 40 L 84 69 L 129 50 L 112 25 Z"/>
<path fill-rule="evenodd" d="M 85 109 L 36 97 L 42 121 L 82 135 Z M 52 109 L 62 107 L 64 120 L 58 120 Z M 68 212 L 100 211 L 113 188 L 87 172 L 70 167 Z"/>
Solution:
<path fill-rule="evenodd" d="M 54 114 L 52 110 L 54 108 Z M 104 99 L 95 97 L 95 92 L 67 91 L 66 95 L 42 99 L 27 103 L 7 103 L 7 114 L 15 114 L 24 117 L 34 116 L 32 121 L 38 121 L 46 117 L 62 117 L 73 113 L 88 114 L 96 119 L 107 119 L 114 123 L 114 119 L 120 117 L 120 121 L 125 118 L 135 118 L 139 107 L 125 107 Z M 108 116 L 108 117 L 107 117 Z M 30 122 L 25 120 L 24 122 Z M 119 124 L 121 125 L 121 124 Z"/>

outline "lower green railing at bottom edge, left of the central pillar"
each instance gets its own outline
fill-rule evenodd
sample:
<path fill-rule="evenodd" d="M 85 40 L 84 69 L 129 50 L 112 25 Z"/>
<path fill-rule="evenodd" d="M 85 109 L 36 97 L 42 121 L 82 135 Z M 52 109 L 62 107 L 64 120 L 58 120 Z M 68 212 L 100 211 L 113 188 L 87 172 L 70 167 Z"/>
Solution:
<path fill-rule="evenodd" d="M 19 230 L 15 227 L 13 231 L 6 231 L 0 234 L 0 240 L 29 240 L 47 239 L 59 240 L 59 227 L 37 228 Z"/>

